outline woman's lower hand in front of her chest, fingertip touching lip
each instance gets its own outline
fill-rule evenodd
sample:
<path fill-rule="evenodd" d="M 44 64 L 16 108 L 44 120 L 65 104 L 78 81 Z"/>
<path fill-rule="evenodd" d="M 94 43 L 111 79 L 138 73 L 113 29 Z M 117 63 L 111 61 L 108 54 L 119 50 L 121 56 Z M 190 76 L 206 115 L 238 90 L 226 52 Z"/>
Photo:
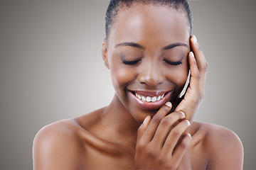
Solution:
<path fill-rule="evenodd" d="M 169 114 L 170 111 L 171 103 L 167 102 L 152 119 L 146 117 L 139 127 L 135 154 L 137 169 L 178 168 L 191 141 L 191 135 L 183 135 L 190 123 L 182 120 L 184 113 Z"/>

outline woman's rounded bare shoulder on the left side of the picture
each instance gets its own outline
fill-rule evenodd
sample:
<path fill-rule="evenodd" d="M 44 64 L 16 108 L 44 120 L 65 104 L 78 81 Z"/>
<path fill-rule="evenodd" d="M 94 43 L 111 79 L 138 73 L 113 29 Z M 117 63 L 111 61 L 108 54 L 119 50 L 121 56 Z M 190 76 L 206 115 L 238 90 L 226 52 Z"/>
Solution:
<path fill-rule="evenodd" d="M 33 141 L 34 169 L 58 169 L 78 166 L 82 140 L 75 120 L 60 120 L 39 130 Z"/>

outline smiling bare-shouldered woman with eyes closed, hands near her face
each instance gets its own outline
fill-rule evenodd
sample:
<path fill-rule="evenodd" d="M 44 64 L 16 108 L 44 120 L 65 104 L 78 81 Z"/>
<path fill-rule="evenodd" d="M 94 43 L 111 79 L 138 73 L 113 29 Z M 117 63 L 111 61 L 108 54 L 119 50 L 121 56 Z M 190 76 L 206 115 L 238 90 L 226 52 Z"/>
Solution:
<path fill-rule="evenodd" d="M 187 1 L 110 1 L 102 57 L 114 98 L 40 130 L 34 169 L 242 169 L 234 132 L 193 122 L 207 64 L 191 29 Z"/>

